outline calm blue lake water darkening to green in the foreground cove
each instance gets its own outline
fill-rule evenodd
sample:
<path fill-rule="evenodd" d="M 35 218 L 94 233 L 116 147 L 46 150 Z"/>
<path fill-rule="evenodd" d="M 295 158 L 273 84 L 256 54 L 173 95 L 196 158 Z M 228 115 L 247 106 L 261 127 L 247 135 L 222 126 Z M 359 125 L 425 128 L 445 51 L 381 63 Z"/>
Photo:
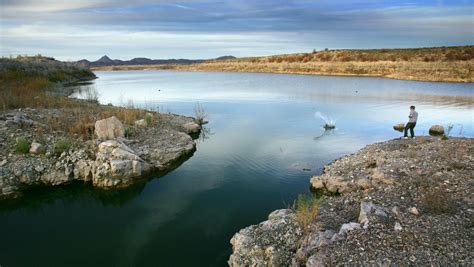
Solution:
<path fill-rule="evenodd" d="M 229 240 L 309 191 L 324 164 L 400 136 L 452 123 L 474 135 L 473 84 L 382 78 L 172 71 L 97 72 L 100 102 L 193 115 L 209 124 L 178 169 L 104 192 L 72 184 L 0 204 L 1 266 L 222 266 Z M 325 132 L 316 112 L 337 119 Z M 303 170 L 305 169 L 305 170 Z M 306 170 L 310 169 L 310 171 Z"/>

